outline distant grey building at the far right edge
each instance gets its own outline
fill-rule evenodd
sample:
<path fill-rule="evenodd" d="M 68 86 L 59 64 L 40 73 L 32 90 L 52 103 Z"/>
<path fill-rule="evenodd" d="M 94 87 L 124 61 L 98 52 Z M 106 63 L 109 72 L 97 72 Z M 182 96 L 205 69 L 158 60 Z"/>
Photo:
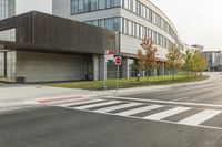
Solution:
<path fill-rule="evenodd" d="M 211 72 L 222 71 L 222 51 L 203 52 Z"/>

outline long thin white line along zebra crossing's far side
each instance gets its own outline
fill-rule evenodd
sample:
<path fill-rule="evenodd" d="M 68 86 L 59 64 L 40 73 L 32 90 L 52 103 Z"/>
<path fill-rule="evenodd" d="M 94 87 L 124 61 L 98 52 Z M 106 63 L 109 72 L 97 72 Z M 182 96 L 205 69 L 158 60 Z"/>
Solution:
<path fill-rule="evenodd" d="M 155 101 L 155 99 L 143 99 L 143 98 L 131 98 L 131 97 L 115 97 L 115 96 L 105 96 L 107 98 L 113 99 L 125 99 L 125 101 L 137 101 L 137 102 L 149 102 L 149 103 L 161 103 L 161 104 L 176 104 L 176 105 L 188 105 L 188 106 L 206 106 L 206 107 L 219 107 L 222 108 L 222 105 L 214 104 L 201 104 L 201 103 L 184 103 L 184 102 L 173 102 L 173 101 Z"/>

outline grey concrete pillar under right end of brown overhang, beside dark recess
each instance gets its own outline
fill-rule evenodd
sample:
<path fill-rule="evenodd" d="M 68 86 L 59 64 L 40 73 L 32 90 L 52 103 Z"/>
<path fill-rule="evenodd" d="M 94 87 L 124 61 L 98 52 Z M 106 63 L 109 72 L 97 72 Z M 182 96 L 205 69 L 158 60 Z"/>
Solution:
<path fill-rule="evenodd" d="M 92 72 L 93 72 L 93 81 L 98 81 L 99 80 L 99 55 L 92 55 Z"/>

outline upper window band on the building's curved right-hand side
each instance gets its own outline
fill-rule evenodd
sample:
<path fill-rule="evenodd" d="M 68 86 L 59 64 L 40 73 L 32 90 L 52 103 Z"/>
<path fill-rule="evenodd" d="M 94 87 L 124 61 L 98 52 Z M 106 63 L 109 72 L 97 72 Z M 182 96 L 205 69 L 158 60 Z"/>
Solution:
<path fill-rule="evenodd" d="M 169 23 L 139 0 L 121 0 L 121 7 L 152 22 L 176 40 L 176 34 Z"/>

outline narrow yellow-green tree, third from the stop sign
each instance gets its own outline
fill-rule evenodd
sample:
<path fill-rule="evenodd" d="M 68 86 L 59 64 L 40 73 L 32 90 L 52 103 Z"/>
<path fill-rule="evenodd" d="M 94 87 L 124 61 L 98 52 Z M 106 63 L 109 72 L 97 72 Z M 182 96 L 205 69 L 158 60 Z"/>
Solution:
<path fill-rule="evenodd" d="M 192 56 L 193 56 L 193 50 L 191 50 L 191 49 L 186 50 L 185 55 L 184 55 L 183 67 L 188 72 L 188 77 L 190 77 L 190 72 L 191 72 L 191 67 L 192 67 Z"/>

